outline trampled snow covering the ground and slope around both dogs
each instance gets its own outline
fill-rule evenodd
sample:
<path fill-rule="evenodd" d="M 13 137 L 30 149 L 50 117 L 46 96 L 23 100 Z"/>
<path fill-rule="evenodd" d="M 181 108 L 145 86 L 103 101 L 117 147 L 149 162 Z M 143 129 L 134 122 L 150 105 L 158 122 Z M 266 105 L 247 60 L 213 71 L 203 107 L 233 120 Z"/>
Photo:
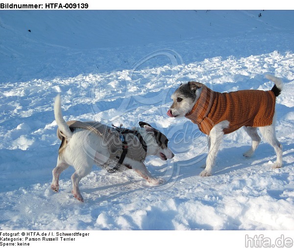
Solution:
<path fill-rule="evenodd" d="M 0 229 L 293 230 L 293 23 L 293 11 L 273 10 L 2 10 Z M 268 90 L 265 74 L 284 81 L 276 104 L 283 168 L 271 169 L 266 143 L 244 158 L 250 139 L 238 130 L 225 136 L 214 174 L 200 177 L 206 137 L 166 115 L 173 91 L 193 79 L 220 92 Z M 66 120 L 146 121 L 165 133 L 175 157 L 146 165 L 166 183 L 93 167 L 81 203 L 69 168 L 52 192 L 58 93 Z"/>

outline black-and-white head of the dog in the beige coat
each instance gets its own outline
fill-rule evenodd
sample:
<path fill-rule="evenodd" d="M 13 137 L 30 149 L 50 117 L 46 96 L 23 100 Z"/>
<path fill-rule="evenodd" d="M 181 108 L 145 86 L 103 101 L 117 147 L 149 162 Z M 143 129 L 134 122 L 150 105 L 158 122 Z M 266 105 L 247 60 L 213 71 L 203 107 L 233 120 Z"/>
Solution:
<path fill-rule="evenodd" d="M 139 122 L 140 127 L 144 128 L 146 135 L 144 140 L 147 145 L 149 155 L 156 155 L 162 160 L 167 160 L 174 157 L 172 150 L 168 148 L 168 138 L 159 130 L 153 128 L 146 122 Z"/>

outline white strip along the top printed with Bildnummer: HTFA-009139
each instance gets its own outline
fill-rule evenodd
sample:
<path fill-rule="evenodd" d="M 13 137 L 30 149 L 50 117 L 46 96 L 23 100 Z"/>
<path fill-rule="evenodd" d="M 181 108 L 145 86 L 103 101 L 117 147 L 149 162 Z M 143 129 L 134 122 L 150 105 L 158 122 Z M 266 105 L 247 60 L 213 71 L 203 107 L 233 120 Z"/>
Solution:
<path fill-rule="evenodd" d="M 88 3 L 87 10 L 292 10 L 293 1 L 279 0 L 2 0 L 1 3 L 45 4 Z M 3 10 L 3 9 L 2 9 Z M 45 8 L 43 8 L 45 10 Z M 57 9 L 56 9 L 57 10 Z M 58 9 L 60 10 L 60 9 Z M 70 10 L 70 9 L 62 9 Z"/>

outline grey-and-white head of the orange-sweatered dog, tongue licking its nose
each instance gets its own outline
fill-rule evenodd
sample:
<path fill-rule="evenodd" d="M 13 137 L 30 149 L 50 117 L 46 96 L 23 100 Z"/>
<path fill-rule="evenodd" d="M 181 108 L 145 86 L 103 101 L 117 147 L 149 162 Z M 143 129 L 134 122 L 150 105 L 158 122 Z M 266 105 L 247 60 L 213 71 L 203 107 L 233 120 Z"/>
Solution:
<path fill-rule="evenodd" d="M 173 102 L 167 115 L 183 117 L 189 113 L 200 96 L 202 86 L 203 84 L 194 81 L 181 84 L 172 94 Z"/>

